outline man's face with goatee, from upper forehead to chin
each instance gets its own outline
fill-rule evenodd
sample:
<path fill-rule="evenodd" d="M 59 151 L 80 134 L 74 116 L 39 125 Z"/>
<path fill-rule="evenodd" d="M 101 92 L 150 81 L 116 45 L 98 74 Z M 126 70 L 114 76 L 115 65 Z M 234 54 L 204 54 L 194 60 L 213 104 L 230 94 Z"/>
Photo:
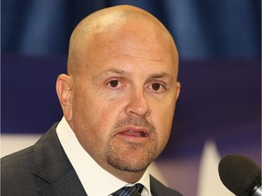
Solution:
<path fill-rule="evenodd" d="M 145 22 L 110 31 L 98 26 L 88 40 L 73 76 L 69 124 L 102 167 L 144 171 L 170 135 L 179 91 L 176 49 Z"/>

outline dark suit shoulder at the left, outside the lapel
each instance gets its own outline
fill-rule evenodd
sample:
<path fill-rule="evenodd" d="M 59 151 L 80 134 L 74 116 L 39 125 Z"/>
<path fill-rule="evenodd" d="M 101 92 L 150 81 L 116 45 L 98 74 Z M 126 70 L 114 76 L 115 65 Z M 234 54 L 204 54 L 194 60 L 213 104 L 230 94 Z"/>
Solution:
<path fill-rule="evenodd" d="M 52 139 L 55 137 L 55 127 L 51 128 L 33 146 L 19 152 L 14 152 L 1 159 L 1 194 L 7 195 L 38 195 L 38 183 L 35 171 L 37 157 L 45 162 L 45 158 L 54 149 Z M 43 153 L 45 152 L 45 153 Z M 44 155 L 43 155 L 44 154 Z M 47 155 L 46 155 L 47 154 Z"/>

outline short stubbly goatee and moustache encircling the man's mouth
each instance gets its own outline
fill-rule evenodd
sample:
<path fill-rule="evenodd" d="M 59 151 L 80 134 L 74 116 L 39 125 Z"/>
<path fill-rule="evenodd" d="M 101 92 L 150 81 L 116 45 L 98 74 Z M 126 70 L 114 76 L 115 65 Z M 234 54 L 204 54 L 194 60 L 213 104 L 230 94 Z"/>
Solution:
<path fill-rule="evenodd" d="M 146 143 L 114 142 L 114 135 L 126 125 L 144 126 L 149 130 L 149 141 Z M 156 159 L 158 143 L 156 128 L 146 118 L 127 117 L 116 122 L 106 145 L 106 162 L 119 171 L 139 172 Z"/>

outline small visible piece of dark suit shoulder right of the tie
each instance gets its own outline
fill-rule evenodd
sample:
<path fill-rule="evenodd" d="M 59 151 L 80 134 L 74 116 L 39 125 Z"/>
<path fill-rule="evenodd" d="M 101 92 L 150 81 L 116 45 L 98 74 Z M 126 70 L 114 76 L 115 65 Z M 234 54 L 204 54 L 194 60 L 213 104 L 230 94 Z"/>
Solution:
<path fill-rule="evenodd" d="M 154 178 L 153 176 L 150 176 L 150 184 L 153 195 L 182 196 L 181 193 L 176 190 L 170 189 L 169 187 L 166 187 L 163 183 L 157 181 L 156 178 Z"/>

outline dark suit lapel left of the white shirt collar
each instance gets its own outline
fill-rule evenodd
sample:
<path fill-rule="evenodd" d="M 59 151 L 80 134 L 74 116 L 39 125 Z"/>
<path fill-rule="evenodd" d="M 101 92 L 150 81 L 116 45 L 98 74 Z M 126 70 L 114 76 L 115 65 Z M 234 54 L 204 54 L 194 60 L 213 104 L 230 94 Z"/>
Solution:
<path fill-rule="evenodd" d="M 57 123 L 35 143 L 34 174 L 43 196 L 84 196 L 86 191 L 61 146 Z"/>

